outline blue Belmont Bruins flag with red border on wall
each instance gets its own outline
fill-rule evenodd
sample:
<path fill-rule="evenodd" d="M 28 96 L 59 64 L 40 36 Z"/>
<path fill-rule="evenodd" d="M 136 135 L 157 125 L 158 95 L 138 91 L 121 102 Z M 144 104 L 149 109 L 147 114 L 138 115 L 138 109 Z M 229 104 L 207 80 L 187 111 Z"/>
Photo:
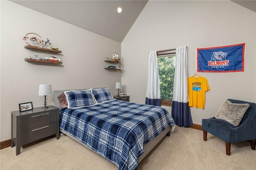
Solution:
<path fill-rule="evenodd" d="M 198 72 L 244 71 L 245 43 L 196 49 Z"/>

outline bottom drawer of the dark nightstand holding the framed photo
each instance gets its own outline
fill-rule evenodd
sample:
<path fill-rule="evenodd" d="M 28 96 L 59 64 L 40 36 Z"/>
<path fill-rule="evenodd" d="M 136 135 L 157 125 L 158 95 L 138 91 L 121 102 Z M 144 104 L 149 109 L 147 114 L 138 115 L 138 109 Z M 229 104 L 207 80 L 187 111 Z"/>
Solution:
<path fill-rule="evenodd" d="M 54 135 L 56 133 L 56 123 L 50 123 L 43 126 L 35 127 L 22 131 L 21 145 L 37 141 L 39 139 Z"/>

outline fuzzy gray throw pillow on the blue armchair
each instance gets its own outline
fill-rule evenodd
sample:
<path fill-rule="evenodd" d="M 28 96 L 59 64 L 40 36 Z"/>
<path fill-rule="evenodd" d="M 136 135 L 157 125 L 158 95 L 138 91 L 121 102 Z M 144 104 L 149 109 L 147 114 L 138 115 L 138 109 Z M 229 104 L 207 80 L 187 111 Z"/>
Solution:
<path fill-rule="evenodd" d="M 250 104 L 237 104 L 224 100 L 215 118 L 223 119 L 234 126 L 238 126 L 249 106 Z"/>

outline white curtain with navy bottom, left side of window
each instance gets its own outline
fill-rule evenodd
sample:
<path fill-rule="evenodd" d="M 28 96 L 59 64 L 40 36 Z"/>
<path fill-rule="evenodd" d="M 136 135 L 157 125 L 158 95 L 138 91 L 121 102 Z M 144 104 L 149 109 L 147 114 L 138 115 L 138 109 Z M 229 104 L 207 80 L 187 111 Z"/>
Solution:
<path fill-rule="evenodd" d="M 150 51 L 148 57 L 148 81 L 146 89 L 146 104 L 161 106 L 156 51 Z"/>

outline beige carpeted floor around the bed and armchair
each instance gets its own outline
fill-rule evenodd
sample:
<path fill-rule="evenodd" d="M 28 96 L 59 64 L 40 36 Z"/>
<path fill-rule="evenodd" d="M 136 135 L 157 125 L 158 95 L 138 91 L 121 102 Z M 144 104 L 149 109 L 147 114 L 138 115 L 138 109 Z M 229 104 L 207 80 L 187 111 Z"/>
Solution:
<path fill-rule="evenodd" d="M 118 170 L 102 156 L 68 136 L 61 135 L 24 145 L 20 155 L 15 147 L 0 150 L 1 170 Z M 208 133 L 177 127 L 140 162 L 138 170 L 254 170 L 256 151 L 250 143 L 231 144 L 226 155 L 225 142 Z"/>

